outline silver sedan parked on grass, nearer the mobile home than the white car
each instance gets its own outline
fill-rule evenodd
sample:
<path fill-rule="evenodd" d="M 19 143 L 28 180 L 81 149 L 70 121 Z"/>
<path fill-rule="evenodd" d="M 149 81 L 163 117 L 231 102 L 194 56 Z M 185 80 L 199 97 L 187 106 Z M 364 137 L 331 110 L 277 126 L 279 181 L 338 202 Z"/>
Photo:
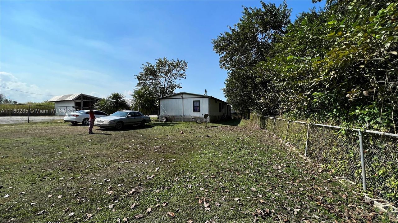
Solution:
<path fill-rule="evenodd" d="M 94 125 L 102 128 L 122 129 L 125 125 L 145 125 L 150 122 L 149 116 L 137 111 L 118 111 L 107 117 L 101 117 L 94 121 Z"/>

